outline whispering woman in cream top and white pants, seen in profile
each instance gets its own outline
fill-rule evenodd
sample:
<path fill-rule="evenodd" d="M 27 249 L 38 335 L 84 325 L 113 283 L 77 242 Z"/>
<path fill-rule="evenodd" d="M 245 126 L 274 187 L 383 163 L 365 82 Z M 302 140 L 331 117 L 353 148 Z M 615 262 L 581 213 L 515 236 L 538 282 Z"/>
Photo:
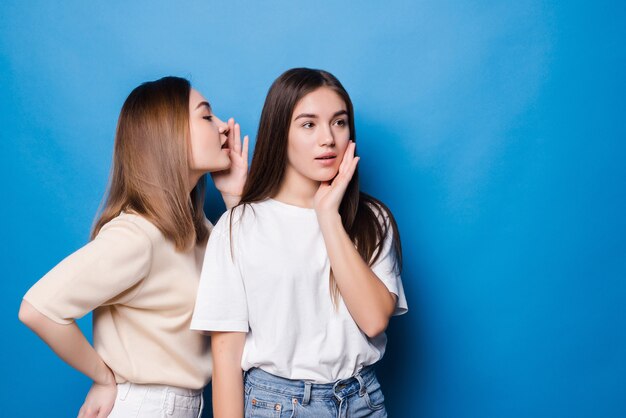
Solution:
<path fill-rule="evenodd" d="M 19 312 L 93 379 L 79 417 L 200 416 L 211 353 L 189 325 L 211 228 L 204 174 L 232 207 L 247 153 L 239 125 L 220 121 L 185 79 L 144 83 L 126 99 L 91 242 L 39 280 Z M 90 311 L 93 347 L 74 322 Z"/>

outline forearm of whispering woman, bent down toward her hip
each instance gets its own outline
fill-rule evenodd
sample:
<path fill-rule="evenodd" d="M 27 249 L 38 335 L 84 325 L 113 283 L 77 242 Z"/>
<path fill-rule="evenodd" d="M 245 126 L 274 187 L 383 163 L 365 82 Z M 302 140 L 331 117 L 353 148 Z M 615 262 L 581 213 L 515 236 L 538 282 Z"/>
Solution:
<path fill-rule="evenodd" d="M 87 375 L 94 382 L 110 384 L 115 381 L 111 370 L 75 323 L 58 324 L 37 311 L 25 300 L 20 306 L 19 318 L 63 361 Z"/>

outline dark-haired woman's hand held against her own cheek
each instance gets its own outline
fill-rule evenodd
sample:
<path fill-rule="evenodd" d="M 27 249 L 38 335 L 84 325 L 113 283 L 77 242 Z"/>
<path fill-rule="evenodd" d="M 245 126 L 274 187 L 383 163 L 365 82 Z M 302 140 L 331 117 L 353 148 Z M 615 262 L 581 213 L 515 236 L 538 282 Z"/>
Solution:
<path fill-rule="evenodd" d="M 337 176 L 332 181 L 322 182 L 317 189 L 313 197 L 313 207 L 318 218 L 339 214 L 339 205 L 359 163 L 359 157 L 354 156 L 355 149 L 356 144 L 350 141 L 343 154 Z"/>

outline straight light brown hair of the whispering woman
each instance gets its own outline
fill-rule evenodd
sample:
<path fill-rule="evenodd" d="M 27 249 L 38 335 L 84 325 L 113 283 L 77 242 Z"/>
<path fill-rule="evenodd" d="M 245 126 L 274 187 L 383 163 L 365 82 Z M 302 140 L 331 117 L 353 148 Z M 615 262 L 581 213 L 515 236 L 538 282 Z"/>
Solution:
<path fill-rule="evenodd" d="M 207 239 L 204 176 L 189 193 L 188 80 L 164 77 L 135 88 L 122 106 L 109 187 L 91 233 L 122 211 L 146 217 L 177 250 Z"/>

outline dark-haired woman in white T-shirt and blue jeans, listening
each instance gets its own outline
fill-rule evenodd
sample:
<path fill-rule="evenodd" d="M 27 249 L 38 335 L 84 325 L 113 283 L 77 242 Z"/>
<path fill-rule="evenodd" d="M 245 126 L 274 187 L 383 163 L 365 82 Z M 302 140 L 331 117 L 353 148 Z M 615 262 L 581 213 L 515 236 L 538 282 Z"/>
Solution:
<path fill-rule="evenodd" d="M 354 139 L 331 74 L 292 69 L 270 88 L 192 319 L 211 331 L 217 418 L 386 416 L 372 365 L 407 310 L 401 248 L 389 210 L 359 192 Z"/>

